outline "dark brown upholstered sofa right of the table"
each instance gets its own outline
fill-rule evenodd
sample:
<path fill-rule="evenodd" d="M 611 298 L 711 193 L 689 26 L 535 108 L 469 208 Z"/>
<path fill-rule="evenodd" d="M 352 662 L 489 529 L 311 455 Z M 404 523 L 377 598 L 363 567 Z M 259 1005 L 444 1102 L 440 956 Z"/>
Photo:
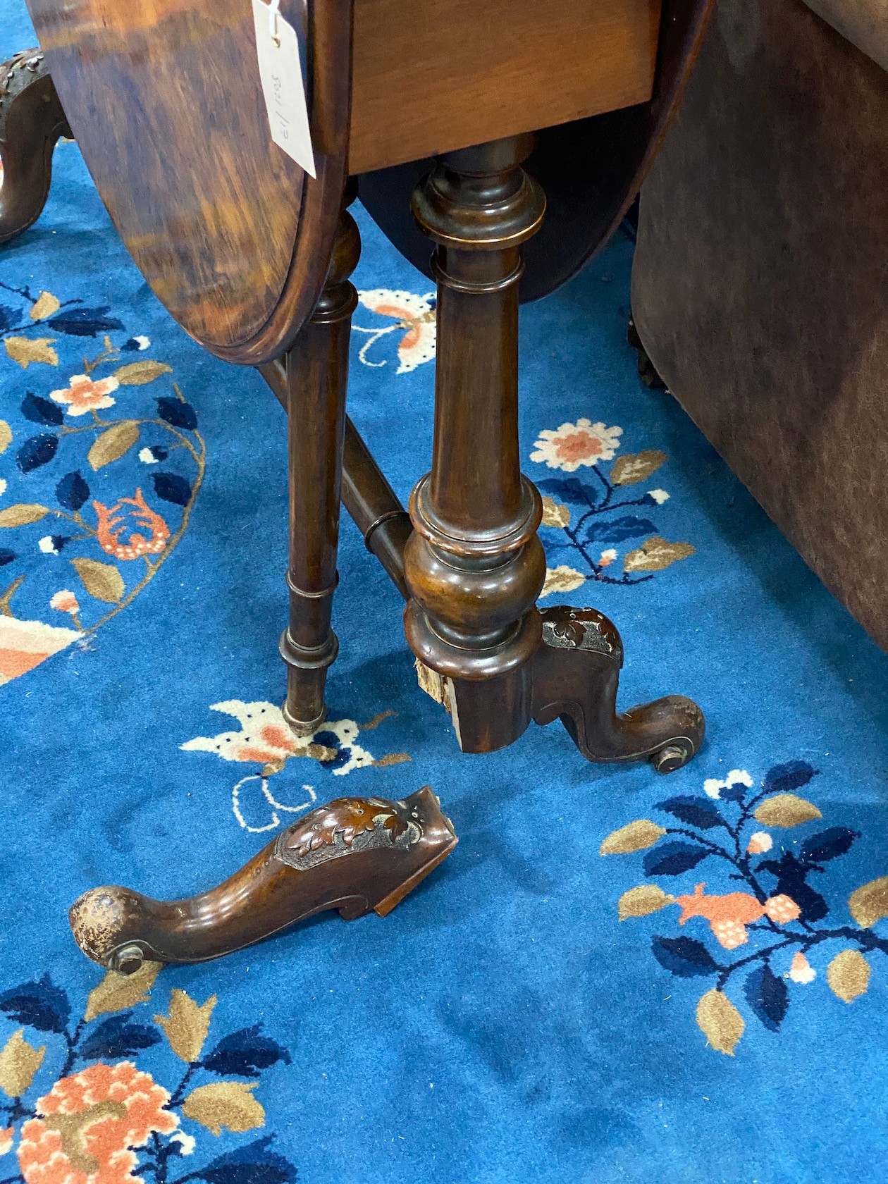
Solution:
<path fill-rule="evenodd" d="M 718 0 L 642 191 L 671 392 L 888 649 L 888 0 Z"/>

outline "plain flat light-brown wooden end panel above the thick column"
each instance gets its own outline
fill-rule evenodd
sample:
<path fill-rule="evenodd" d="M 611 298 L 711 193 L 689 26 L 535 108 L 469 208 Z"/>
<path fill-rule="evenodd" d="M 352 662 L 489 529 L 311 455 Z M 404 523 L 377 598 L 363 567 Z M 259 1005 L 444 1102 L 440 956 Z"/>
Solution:
<path fill-rule="evenodd" d="M 651 97 L 659 0 L 355 0 L 349 172 Z"/>

